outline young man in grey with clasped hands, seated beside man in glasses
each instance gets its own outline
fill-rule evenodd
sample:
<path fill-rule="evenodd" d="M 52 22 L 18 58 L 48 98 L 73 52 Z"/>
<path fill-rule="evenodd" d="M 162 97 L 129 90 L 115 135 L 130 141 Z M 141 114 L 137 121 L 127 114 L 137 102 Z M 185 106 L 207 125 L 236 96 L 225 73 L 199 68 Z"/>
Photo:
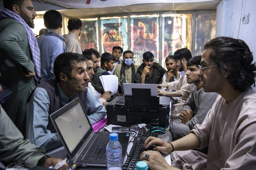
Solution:
<path fill-rule="evenodd" d="M 173 122 L 171 132 L 173 140 L 182 138 L 188 135 L 196 124 L 202 124 L 208 111 L 212 108 L 218 94 L 206 93 L 202 88 L 202 81 L 197 74 L 202 56 L 194 56 L 187 62 L 188 71 L 187 83 L 193 83 L 195 86 L 183 105 L 183 110 L 180 113 L 179 122 Z"/>

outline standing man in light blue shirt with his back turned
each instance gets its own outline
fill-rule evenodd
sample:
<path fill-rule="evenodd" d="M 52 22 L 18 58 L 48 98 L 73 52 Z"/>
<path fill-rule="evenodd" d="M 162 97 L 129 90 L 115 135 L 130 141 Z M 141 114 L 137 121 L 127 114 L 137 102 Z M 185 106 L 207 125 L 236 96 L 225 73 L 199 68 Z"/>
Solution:
<path fill-rule="evenodd" d="M 59 35 L 62 28 L 61 14 L 57 10 L 48 10 L 43 15 L 43 21 L 46 30 L 37 42 L 41 52 L 41 80 L 45 81 L 54 77 L 53 62 L 56 57 L 68 50 L 65 38 Z"/>

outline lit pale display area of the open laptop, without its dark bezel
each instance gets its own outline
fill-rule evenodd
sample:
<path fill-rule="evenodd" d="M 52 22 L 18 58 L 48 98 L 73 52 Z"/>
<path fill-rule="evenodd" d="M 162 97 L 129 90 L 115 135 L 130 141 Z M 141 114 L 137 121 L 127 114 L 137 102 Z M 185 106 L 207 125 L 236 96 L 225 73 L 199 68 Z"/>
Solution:
<path fill-rule="evenodd" d="M 89 122 L 79 103 L 56 118 L 55 122 L 71 153 L 90 129 Z"/>

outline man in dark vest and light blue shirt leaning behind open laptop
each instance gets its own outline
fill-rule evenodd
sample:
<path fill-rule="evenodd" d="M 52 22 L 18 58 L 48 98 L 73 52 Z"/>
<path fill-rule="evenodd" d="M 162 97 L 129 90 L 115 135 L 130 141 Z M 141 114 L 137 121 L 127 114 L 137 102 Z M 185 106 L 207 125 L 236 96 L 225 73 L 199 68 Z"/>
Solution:
<path fill-rule="evenodd" d="M 86 73 L 85 58 L 77 53 L 62 53 L 54 61 L 55 78 L 40 83 L 27 104 L 27 139 L 47 150 L 61 145 L 61 141 L 49 115 L 59 108 L 80 98 L 91 124 L 103 119 L 106 109 L 91 90 Z"/>

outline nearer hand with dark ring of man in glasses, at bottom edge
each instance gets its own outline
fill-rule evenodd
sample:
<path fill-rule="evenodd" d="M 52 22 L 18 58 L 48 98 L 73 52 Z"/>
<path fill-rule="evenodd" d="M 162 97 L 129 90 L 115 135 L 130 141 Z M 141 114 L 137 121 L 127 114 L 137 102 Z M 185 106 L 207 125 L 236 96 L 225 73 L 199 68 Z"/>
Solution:
<path fill-rule="evenodd" d="M 145 159 L 145 155 L 149 156 L 147 160 Z M 145 161 L 150 170 L 167 170 L 171 168 L 161 153 L 156 151 L 148 150 L 142 152 L 140 160 Z"/>

